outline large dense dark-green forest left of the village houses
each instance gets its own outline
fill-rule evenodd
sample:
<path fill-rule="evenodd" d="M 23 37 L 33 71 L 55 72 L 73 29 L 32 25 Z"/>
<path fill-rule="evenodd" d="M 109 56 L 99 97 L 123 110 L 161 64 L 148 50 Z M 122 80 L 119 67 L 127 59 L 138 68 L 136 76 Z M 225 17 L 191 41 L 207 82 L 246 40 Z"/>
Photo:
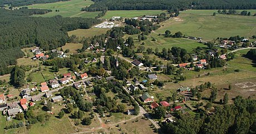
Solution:
<path fill-rule="evenodd" d="M 15 65 L 16 59 L 24 56 L 21 48 L 37 45 L 44 50 L 56 49 L 67 42 L 67 31 L 87 29 L 100 23 L 100 20 L 92 18 L 29 17 L 32 14 L 48 12 L 51 11 L 0 9 L 0 70 L 4 70 L 8 65 Z"/>

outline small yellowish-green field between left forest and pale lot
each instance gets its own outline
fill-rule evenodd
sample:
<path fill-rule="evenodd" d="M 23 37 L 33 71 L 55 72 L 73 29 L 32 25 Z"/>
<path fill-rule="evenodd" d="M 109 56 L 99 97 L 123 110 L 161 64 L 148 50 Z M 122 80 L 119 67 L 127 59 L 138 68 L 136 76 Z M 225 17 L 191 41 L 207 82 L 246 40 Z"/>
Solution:
<path fill-rule="evenodd" d="M 77 37 L 93 37 L 95 35 L 105 34 L 108 28 L 90 28 L 90 29 L 77 29 L 68 32 L 68 36 L 76 35 Z"/>

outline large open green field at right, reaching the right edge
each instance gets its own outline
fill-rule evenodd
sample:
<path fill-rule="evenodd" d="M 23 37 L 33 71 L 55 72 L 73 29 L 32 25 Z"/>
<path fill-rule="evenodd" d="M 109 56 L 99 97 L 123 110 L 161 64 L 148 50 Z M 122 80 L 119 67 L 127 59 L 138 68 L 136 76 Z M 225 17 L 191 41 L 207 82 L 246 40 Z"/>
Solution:
<path fill-rule="evenodd" d="M 249 10 L 248 10 L 249 11 Z M 170 30 L 171 33 L 182 32 L 186 36 L 202 37 L 211 40 L 217 37 L 230 37 L 240 35 L 251 37 L 256 34 L 256 19 L 254 16 L 238 16 L 216 14 L 216 10 L 189 10 L 180 12 L 178 18 L 161 23 L 157 33 Z M 250 10 L 252 14 L 256 10 Z"/>

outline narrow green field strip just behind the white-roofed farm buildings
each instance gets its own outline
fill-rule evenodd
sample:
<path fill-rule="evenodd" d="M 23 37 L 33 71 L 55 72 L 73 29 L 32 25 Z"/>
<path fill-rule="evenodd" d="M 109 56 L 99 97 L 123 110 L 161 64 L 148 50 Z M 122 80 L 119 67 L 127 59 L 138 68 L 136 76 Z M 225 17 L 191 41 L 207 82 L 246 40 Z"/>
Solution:
<path fill-rule="evenodd" d="M 133 17 L 140 17 L 143 15 L 157 15 L 166 11 L 162 10 L 142 10 L 142 11 L 107 11 L 105 14 L 104 19 L 111 19 L 113 16 L 120 16 L 122 18 L 133 18 Z"/>

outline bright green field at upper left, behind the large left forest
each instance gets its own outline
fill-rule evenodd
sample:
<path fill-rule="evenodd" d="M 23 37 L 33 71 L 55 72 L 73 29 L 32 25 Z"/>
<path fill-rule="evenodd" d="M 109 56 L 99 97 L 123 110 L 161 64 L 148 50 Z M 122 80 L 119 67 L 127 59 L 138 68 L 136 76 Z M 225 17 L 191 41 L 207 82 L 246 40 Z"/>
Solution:
<path fill-rule="evenodd" d="M 91 0 L 73 0 L 67 2 L 55 2 L 46 4 L 33 4 L 28 6 L 28 8 L 41 8 L 41 9 L 51 9 L 51 13 L 43 15 L 35 15 L 35 17 L 52 17 L 52 16 L 63 16 L 63 17 L 85 17 L 94 18 L 99 12 L 81 12 L 82 7 L 90 6 L 93 4 Z M 55 10 L 60 10 L 60 12 L 55 12 Z"/>

